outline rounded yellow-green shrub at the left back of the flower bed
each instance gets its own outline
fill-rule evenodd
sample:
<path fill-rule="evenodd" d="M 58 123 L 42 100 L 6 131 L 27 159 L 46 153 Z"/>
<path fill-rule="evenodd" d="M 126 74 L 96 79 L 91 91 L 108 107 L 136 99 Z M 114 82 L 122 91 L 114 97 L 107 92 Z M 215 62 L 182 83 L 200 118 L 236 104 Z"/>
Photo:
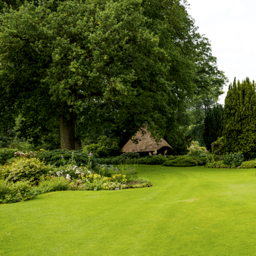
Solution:
<path fill-rule="evenodd" d="M 38 183 L 40 176 L 53 171 L 53 167 L 44 165 L 36 158 L 17 158 L 14 162 L 0 167 L 0 173 L 8 182 L 29 180 Z"/>

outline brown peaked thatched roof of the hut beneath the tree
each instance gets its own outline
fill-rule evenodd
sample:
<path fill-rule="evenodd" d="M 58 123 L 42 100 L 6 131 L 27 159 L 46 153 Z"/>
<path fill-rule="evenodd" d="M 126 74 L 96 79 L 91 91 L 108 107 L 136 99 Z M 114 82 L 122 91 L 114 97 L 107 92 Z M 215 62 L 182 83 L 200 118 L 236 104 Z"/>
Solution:
<path fill-rule="evenodd" d="M 134 143 L 132 141 L 134 139 L 137 139 L 139 143 Z M 146 128 L 142 128 L 124 145 L 121 152 L 154 152 L 160 150 L 162 147 L 170 147 L 172 149 L 171 145 L 164 139 L 161 139 L 161 141 L 157 143 L 154 138 L 151 137 L 151 132 Z"/>

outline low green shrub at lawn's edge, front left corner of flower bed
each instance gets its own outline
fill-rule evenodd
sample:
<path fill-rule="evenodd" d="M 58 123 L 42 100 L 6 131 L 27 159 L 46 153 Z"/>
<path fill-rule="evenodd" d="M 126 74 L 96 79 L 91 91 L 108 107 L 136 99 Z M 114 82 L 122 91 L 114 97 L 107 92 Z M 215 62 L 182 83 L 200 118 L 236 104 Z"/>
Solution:
<path fill-rule="evenodd" d="M 30 183 L 0 180 L 0 203 L 16 203 L 35 197 Z"/>

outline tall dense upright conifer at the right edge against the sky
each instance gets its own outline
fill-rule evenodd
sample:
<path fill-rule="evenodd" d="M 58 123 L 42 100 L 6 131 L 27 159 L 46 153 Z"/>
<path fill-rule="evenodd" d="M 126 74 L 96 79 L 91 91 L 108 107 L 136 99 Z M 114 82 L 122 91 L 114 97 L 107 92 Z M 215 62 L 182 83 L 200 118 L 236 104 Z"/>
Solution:
<path fill-rule="evenodd" d="M 246 158 L 256 156 L 255 82 L 248 78 L 229 85 L 225 98 L 225 152 L 242 152 Z"/>

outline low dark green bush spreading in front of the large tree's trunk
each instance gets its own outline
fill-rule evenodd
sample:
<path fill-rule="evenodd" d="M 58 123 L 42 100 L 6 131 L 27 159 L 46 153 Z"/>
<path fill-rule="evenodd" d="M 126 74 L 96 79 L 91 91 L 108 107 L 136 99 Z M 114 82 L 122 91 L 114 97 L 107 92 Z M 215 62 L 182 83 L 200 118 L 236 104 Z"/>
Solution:
<path fill-rule="evenodd" d="M 44 160 L 46 165 L 54 165 L 56 167 L 72 163 L 76 165 L 87 165 L 88 157 L 89 155 L 87 153 L 83 153 L 80 150 L 44 150 L 38 152 L 37 156 L 39 160 Z"/>

